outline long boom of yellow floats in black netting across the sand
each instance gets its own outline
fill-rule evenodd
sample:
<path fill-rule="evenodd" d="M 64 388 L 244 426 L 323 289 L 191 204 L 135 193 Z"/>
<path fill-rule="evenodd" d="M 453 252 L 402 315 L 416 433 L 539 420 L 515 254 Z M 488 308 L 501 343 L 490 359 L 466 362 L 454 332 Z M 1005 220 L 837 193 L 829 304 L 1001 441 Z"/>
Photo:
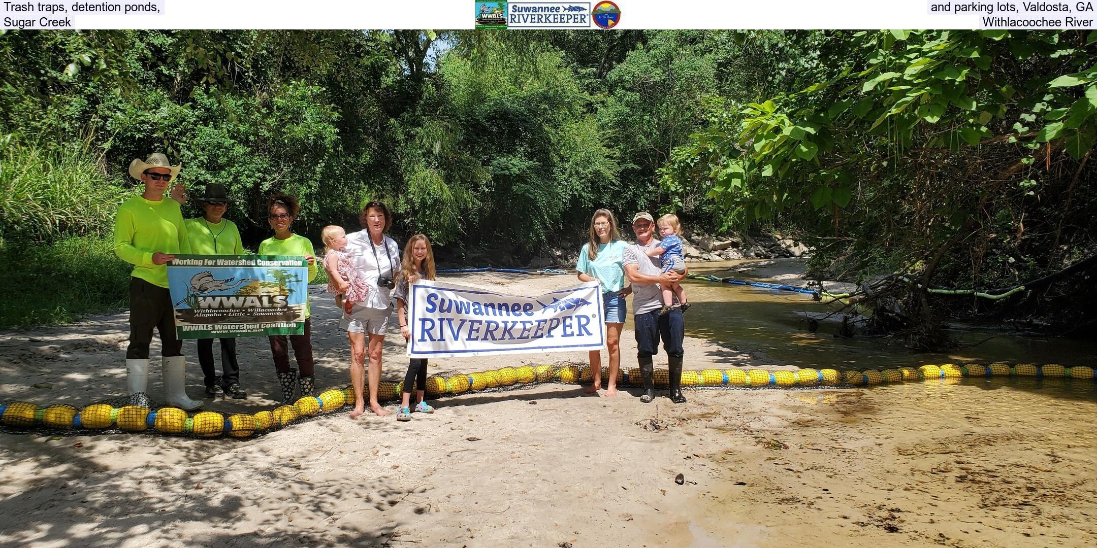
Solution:
<path fill-rule="evenodd" d="M 962 377 L 1048 377 L 1094 379 L 1094 368 L 1088 366 L 1063 367 L 1059 364 L 1032 365 L 1003 363 L 989 365 L 924 365 L 890 369 L 836 370 L 798 369 L 768 370 L 761 368 L 709 368 L 683 370 L 681 386 L 686 389 L 758 389 L 758 388 L 835 388 L 871 386 L 924 379 L 959 379 Z M 602 368 L 602 380 L 609 373 Z M 528 388 L 544 383 L 588 384 L 592 378 L 590 366 L 581 362 L 521 365 L 475 373 L 432 375 L 427 378 L 427 397 L 460 396 L 470 392 L 496 392 Z M 654 372 L 655 386 L 666 388 L 669 373 L 665 368 Z M 621 368 L 619 386 L 642 386 L 638 368 Z M 403 383 L 382 381 L 377 387 L 378 401 L 400 397 Z M 247 438 L 267 434 L 290 424 L 314 420 L 337 412 L 347 412 L 354 402 L 350 387 L 324 390 L 316 396 L 305 396 L 293 404 L 281 404 L 257 413 L 219 413 L 199 411 L 188 413 L 178 408 L 157 406 L 145 393 L 103 400 L 77 408 L 69 404 L 41 407 L 25 401 L 0 402 L 0 432 L 25 433 L 48 431 L 56 435 L 87 435 L 91 432 L 149 432 L 161 435 L 197 438 Z"/>

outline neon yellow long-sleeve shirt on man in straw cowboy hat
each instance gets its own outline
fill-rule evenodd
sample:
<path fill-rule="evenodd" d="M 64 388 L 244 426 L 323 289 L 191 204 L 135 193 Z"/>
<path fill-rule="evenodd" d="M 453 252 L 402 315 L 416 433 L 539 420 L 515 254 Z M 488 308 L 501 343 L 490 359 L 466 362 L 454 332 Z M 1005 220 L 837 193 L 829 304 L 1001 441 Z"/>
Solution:
<path fill-rule="evenodd" d="M 114 218 L 114 254 L 134 265 L 131 276 L 168 287 L 168 267 L 152 264 L 157 251 L 191 252 L 179 203 L 167 196 L 159 202 L 142 196 L 125 201 Z"/>

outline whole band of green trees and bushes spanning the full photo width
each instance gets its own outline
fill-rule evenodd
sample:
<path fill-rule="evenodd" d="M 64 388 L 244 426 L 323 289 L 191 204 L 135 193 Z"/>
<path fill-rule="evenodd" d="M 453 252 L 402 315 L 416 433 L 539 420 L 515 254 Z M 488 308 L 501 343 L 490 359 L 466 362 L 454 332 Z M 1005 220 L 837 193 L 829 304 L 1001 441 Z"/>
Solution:
<path fill-rule="evenodd" d="M 0 238 L 103 235 L 163 151 L 298 230 L 518 261 L 590 212 L 813 238 L 829 276 L 1002 286 L 1094 252 L 1097 34 L 1008 31 L 0 32 Z M 189 215 L 197 215 L 194 204 Z"/>

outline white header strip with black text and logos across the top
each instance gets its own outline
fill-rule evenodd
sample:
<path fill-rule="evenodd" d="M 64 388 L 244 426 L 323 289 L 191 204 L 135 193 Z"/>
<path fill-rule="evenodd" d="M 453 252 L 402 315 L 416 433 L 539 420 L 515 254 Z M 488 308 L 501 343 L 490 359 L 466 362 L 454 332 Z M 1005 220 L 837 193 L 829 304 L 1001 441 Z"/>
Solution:
<path fill-rule="evenodd" d="M 1066 28 L 1097 0 L 0 1 L 2 28 Z"/>

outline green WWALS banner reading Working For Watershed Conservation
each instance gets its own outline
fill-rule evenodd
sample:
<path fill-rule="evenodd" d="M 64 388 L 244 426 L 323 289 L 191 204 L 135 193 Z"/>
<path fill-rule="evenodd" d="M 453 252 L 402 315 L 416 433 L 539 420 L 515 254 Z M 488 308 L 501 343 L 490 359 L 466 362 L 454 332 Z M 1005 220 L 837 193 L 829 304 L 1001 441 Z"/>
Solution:
<path fill-rule="evenodd" d="M 308 262 L 282 255 L 176 255 L 168 289 L 180 339 L 299 335 Z"/>

